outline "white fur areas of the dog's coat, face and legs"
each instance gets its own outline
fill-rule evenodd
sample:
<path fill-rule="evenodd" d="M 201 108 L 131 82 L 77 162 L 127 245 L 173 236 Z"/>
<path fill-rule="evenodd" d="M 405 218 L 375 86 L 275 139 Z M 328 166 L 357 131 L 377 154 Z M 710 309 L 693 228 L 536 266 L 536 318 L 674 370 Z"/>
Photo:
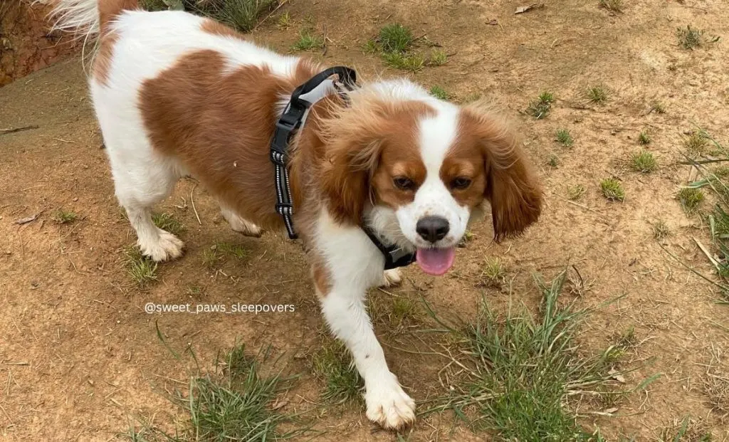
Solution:
<path fill-rule="evenodd" d="M 56 27 L 87 34 L 98 32 L 96 1 L 58 0 L 56 12 L 60 20 Z M 202 23 L 202 18 L 185 12 L 122 12 L 112 23 L 117 42 L 108 78 L 104 84 L 90 80 L 117 198 L 128 213 L 142 253 L 157 261 L 179 257 L 183 244 L 171 233 L 155 227 L 151 208 L 171 193 L 187 171 L 176 160 L 157 154 L 150 144 L 136 99 L 143 82 L 197 50 L 221 53 L 230 70 L 236 66 L 267 65 L 273 72 L 286 75 L 292 73 L 297 62 L 295 57 L 278 55 L 241 39 L 203 32 Z M 460 239 L 469 217 L 468 210 L 453 200 L 438 178 L 440 164 L 456 133 L 456 107 L 438 101 L 407 80 L 376 82 L 367 88 L 384 98 L 417 99 L 437 109 L 435 117 L 420 124 L 420 148 L 427 176 L 415 201 L 397 211 L 370 209 L 367 222 L 383 239 L 413 250 L 422 245 L 415 232 L 418 219 L 426 214 L 443 216 L 451 224 L 451 233 L 438 245 L 451 247 Z M 283 106 L 285 101 L 278 110 Z M 260 235 L 256 225 L 230 209 L 222 207 L 222 214 L 233 229 Z M 413 422 L 415 403 L 389 370 L 364 306 L 367 290 L 379 284 L 397 284 L 398 272 L 383 274 L 384 258 L 362 229 L 338 224 L 326 209 L 321 211 L 316 224 L 313 249 L 330 271 L 330 290 L 320 293 L 321 310 L 332 333 L 345 342 L 364 379 L 367 417 L 386 428 Z"/>

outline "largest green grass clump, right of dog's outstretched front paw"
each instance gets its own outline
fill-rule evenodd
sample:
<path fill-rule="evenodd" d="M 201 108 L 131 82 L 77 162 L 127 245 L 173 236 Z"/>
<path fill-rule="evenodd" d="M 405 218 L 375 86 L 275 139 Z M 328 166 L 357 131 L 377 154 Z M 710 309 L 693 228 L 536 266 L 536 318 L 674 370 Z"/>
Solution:
<path fill-rule="evenodd" d="M 456 360 L 462 380 L 425 414 L 452 410 L 499 441 L 596 441 L 577 423 L 568 398 L 609 390 L 615 349 L 590 355 L 580 348 L 577 337 L 588 311 L 558 303 L 565 277 L 563 271 L 551 284 L 535 277 L 542 293 L 538 314 L 516 305 L 497 314 L 486 298 L 474 323 L 453 327 L 432 314 L 461 336 L 465 359 Z M 464 410 L 478 418 L 467 420 Z"/>

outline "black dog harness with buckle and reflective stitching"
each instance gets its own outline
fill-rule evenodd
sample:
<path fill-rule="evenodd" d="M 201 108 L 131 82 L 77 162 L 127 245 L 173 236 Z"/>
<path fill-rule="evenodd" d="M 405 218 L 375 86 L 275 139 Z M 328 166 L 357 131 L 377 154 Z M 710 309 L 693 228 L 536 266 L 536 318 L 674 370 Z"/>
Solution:
<path fill-rule="evenodd" d="M 294 230 L 293 216 L 294 207 L 291 198 L 291 190 L 289 188 L 289 169 L 286 167 L 288 160 L 287 151 L 289 143 L 293 139 L 295 133 L 301 127 L 306 111 L 314 104 L 306 101 L 300 96 L 306 95 L 321 85 L 324 80 L 337 74 L 339 83 L 347 90 L 354 90 L 356 87 L 356 72 L 344 66 L 335 66 L 325 71 L 319 72 L 294 90 L 291 94 L 289 104 L 284 109 L 284 113 L 276 122 L 276 131 L 273 132 L 270 146 L 270 160 L 273 163 L 276 179 L 276 213 L 280 214 L 286 225 L 286 232 L 289 233 L 290 239 L 297 239 L 298 236 Z M 336 83 L 335 83 L 336 86 Z M 346 94 L 340 91 L 340 96 L 346 99 Z M 316 101 L 314 101 L 316 102 Z M 413 263 L 416 259 L 414 252 L 406 252 L 401 247 L 394 245 L 386 246 L 378 239 L 373 230 L 367 226 L 360 226 L 364 233 L 370 238 L 385 258 L 385 270 L 391 268 L 404 267 Z"/>

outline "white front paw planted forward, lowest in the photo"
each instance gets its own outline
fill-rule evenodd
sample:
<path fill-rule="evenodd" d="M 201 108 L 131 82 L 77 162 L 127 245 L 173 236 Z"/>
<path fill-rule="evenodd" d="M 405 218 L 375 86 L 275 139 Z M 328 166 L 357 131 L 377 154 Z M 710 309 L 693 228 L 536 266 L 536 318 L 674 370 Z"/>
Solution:
<path fill-rule="evenodd" d="M 394 374 L 388 376 L 390 379 L 367 386 L 367 419 L 386 430 L 400 430 L 415 422 L 415 401 L 402 391 Z"/>

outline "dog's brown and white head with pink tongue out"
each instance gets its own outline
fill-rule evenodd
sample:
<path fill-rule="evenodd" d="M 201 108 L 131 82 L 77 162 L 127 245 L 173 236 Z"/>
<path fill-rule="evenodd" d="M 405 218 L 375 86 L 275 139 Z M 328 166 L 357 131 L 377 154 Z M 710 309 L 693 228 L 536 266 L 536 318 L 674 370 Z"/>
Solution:
<path fill-rule="evenodd" d="M 328 209 L 417 249 L 428 274 L 451 268 L 486 202 L 496 241 L 539 217 L 542 190 L 518 138 L 482 106 L 439 101 L 409 82 L 380 83 L 332 115 L 323 125 Z"/>

